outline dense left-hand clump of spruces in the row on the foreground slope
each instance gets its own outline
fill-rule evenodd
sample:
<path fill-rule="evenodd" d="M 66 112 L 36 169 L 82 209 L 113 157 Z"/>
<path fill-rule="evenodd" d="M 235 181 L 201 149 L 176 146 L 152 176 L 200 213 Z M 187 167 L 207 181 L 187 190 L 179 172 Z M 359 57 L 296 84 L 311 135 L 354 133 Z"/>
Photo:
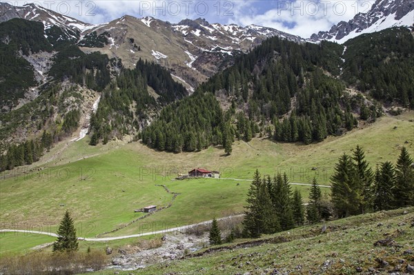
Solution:
<path fill-rule="evenodd" d="M 246 236 L 257 238 L 304 223 L 302 196 L 297 190 L 292 192 L 286 174 L 262 178 L 256 170 L 247 196 L 243 221 Z"/>

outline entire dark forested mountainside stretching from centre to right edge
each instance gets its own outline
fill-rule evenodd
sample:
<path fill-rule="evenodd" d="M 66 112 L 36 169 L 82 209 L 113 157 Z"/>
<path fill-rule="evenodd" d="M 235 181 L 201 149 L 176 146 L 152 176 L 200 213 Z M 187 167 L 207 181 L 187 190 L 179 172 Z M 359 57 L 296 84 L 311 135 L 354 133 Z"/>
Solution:
<path fill-rule="evenodd" d="M 345 45 L 273 37 L 199 85 L 180 108 L 166 108 L 144 130 L 143 141 L 158 150 L 221 144 L 231 152 L 233 137 L 249 141 L 255 132 L 305 144 L 340 135 L 358 119 L 375 121 L 382 103 L 414 108 L 413 85 L 408 85 L 414 77 L 413 46 L 406 28 L 365 34 Z M 209 104 L 221 103 L 224 112 L 205 108 L 210 93 L 216 100 Z M 203 115 L 194 116 L 197 110 Z M 175 133 L 183 134 L 181 147 L 164 143 L 177 140 Z"/>

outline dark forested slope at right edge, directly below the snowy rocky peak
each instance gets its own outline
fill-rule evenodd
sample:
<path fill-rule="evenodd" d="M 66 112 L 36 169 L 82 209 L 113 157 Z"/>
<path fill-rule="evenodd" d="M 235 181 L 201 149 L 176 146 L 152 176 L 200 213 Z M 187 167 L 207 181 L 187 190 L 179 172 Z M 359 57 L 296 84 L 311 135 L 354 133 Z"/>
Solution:
<path fill-rule="evenodd" d="M 414 37 L 408 28 L 363 34 L 344 45 L 345 81 L 375 99 L 414 108 Z"/>

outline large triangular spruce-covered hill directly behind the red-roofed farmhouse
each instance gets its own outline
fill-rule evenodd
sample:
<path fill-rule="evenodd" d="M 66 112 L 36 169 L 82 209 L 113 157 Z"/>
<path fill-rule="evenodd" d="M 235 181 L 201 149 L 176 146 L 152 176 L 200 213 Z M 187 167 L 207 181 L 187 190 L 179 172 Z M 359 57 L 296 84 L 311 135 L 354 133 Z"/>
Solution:
<path fill-rule="evenodd" d="M 268 39 L 238 57 L 235 65 L 199 85 L 191 100 L 184 99 L 179 108 L 167 107 L 140 137 L 157 150 L 192 152 L 208 145 L 223 145 L 229 153 L 231 145 L 226 141 L 250 141 L 257 133 L 264 132 L 275 141 L 309 144 L 352 130 L 358 118 L 375 121 L 382 115 L 375 101 L 366 106 L 364 97 L 344 92 L 344 83 L 323 71 L 339 75 L 335 64 L 341 61 L 342 51 L 343 47 L 335 43 L 298 45 L 278 37 Z M 227 96 L 231 105 L 222 115 L 224 119 L 207 119 L 209 123 L 181 119 L 197 118 L 197 110 L 212 116 L 218 101 L 212 101 L 212 110 L 198 102 L 206 92 Z M 187 124 L 183 126 L 182 121 Z M 164 144 L 164 139 L 175 145 Z"/>

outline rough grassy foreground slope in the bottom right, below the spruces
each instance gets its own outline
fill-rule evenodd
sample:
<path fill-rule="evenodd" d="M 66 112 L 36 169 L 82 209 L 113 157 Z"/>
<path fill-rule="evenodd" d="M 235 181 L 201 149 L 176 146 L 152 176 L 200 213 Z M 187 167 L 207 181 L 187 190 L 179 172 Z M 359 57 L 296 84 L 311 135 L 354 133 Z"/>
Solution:
<path fill-rule="evenodd" d="M 331 221 L 324 234 L 320 233 L 322 225 L 308 225 L 119 274 L 279 274 L 275 270 L 281 274 L 355 274 L 357 267 L 364 272 L 373 267 L 382 274 L 398 268 L 405 271 L 407 263 L 414 264 L 413 255 L 404 255 L 414 246 L 414 207 L 405 211 L 408 213 L 393 210 Z M 383 225 L 378 226 L 380 223 Z M 401 247 L 373 245 L 386 236 Z M 380 267 L 375 258 L 390 265 Z"/>

